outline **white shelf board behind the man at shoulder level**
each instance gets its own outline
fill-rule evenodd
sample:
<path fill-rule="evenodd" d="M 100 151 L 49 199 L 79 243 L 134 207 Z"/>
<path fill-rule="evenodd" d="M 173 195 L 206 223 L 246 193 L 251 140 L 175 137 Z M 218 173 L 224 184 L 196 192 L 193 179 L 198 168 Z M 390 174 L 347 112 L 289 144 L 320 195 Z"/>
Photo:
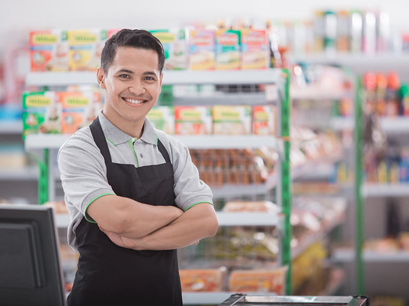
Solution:
<path fill-rule="evenodd" d="M 27 135 L 25 147 L 32 149 L 59 149 L 71 135 L 66 134 L 32 134 Z M 248 148 L 248 147 L 277 147 L 278 141 L 274 136 L 259 135 L 172 135 L 191 149 L 210 148 Z"/>

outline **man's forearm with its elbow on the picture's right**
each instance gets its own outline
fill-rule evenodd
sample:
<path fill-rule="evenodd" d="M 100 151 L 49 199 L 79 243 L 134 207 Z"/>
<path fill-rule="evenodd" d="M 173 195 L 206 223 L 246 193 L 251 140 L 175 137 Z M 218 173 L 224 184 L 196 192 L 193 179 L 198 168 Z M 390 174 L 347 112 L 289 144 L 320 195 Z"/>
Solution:
<path fill-rule="evenodd" d="M 217 217 L 210 203 L 200 203 L 168 225 L 138 239 L 135 250 L 166 250 L 192 245 L 216 235 Z"/>

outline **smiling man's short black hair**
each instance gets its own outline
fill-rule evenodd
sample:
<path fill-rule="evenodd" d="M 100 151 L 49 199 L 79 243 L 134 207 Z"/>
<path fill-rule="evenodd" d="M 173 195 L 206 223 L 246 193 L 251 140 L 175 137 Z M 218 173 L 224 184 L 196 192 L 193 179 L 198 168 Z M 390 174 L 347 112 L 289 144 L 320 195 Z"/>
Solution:
<path fill-rule="evenodd" d="M 162 73 L 165 64 L 165 52 L 162 43 L 154 37 L 152 33 L 138 29 L 122 29 L 105 42 L 101 54 L 101 68 L 105 73 L 108 72 L 113 59 L 115 58 L 117 48 L 121 46 L 155 51 L 159 62 L 159 72 Z"/>

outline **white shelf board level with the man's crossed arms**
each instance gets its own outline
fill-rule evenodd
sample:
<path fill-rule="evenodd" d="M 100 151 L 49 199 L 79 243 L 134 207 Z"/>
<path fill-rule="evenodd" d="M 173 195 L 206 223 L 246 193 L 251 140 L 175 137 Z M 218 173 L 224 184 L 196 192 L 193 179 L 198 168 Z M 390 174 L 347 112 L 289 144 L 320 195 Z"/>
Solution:
<path fill-rule="evenodd" d="M 272 213 L 228 213 L 216 212 L 219 226 L 278 226 L 280 216 Z M 69 214 L 55 214 L 57 227 L 66 228 L 70 225 Z"/>

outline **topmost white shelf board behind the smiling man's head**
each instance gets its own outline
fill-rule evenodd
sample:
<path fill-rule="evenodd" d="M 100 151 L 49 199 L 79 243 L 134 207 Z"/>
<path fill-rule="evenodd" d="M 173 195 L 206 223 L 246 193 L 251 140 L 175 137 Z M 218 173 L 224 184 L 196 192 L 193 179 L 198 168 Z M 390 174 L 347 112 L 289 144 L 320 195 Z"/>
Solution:
<path fill-rule="evenodd" d="M 163 85 L 277 83 L 281 69 L 263 70 L 164 70 Z M 26 86 L 97 85 L 95 71 L 30 72 Z"/>

